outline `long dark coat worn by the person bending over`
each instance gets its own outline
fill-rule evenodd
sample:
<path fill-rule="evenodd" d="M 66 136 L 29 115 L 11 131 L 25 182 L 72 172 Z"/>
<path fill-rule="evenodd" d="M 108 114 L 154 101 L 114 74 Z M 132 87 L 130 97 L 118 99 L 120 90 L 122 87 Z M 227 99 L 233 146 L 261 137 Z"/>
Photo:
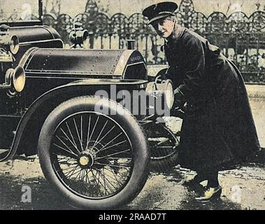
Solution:
<path fill-rule="evenodd" d="M 240 71 L 206 38 L 176 25 L 164 46 L 167 78 L 187 102 L 180 165 L 195 171 L 229 169 L 260 150 Z"/>

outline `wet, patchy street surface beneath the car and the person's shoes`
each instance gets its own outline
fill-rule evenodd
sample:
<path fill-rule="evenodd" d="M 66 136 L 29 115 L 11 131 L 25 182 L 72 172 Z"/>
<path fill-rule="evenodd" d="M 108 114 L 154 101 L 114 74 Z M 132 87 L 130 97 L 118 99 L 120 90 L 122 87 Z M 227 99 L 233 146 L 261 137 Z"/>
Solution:
<path fill-rule="evenodd" d="M 38 160 L 15 160 L 1 165 L 0 209 L 73 209 L 44 179 Z M 151 173 L 145 188 L 128 206 L 121 209 L 265 209 L 265 167 L 250 165 L 222 172 L 220 200 L 201 204 L 195 193 L 182 186 L 194 176 L 175 167 L 166 174 Z M 22 186 L 31 187 L 31 203 L 23 203 Z"/>

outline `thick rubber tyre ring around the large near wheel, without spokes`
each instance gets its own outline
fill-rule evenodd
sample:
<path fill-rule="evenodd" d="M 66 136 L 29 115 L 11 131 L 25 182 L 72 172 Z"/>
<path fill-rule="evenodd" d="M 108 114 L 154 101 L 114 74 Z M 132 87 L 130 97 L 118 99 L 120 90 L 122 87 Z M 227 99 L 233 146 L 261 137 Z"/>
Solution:
<path fill-rule="evenodd" d="M 108 198 L 91 200 L 73 193 L 58 179 L 52 167 L 50 144 L 55 129 L 62 120 L 80 111 L 93 111 L 99 100 L 103 101 L 102 105 L 106 109 L 116 113 L 115 116 L 110 115 L 109 117 L 127 133 L 132 146 L 133 168 L 129 181 L 120 192 Z M 150 153 L 141 126 L 120 104 L 99 97 L 76 97 L 57 106 L 43 124 L 38 140 L 38 153 L 45 178 L 55 186 L 69 204 L 82 209 L 113 209 L 128 204 L 141 192 L 149 175 Z"/>

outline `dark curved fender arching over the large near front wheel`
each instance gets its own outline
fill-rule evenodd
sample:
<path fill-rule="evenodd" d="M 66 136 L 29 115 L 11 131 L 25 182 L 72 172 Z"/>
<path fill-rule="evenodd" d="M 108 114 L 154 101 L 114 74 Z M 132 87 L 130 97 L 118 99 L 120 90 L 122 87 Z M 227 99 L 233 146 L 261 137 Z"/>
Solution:
<path fill-rule="evenodd" d="M 117 91 L 145 90 L 146 80 L 77 80 L 67 85 L 56 87 L 42 94 L 36 99 L 22 116 L 10 149 L 7 160 L 16 154 L 35 155 L 37 153 L 38 136 L 41 127 L 50 112 L 62 102 L 73 97 L 94 95 L 97 90 L 110 92 L 111 85 L 117 87 Z M 26 147 L 25 147 L 26 146 Z"/>

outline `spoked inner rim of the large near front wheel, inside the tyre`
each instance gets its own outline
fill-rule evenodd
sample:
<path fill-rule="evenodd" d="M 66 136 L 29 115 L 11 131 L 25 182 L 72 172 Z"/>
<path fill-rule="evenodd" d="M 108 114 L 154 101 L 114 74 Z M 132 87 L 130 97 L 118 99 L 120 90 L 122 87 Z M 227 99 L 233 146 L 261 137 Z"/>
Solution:
<path fill-rule="evenodd" d="M 59 179 L 83 197 L 115 195 L 131 176 L 127 134 L 114 120 L 93 111 L 64 119 L 55 130 L 51 152 Z"/>

